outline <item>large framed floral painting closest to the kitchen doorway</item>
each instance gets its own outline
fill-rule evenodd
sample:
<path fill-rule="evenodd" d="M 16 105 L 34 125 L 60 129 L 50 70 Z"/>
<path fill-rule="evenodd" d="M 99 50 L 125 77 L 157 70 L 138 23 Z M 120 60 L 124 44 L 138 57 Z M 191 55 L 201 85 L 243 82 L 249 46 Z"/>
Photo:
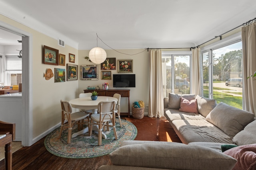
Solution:
<path fill-rule="evenodd" d="M 51 65 L 59 65 L 59 50 L 44 45 L 43 63 Z"/>

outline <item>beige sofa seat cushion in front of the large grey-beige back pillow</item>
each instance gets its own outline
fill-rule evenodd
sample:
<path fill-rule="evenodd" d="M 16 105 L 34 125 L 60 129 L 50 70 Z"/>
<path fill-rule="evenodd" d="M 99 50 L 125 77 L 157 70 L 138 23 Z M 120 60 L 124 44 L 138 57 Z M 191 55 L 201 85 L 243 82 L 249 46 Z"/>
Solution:
<path fill-rule="evenodd" d="M 174 120 L 172 124 L 178 131 L 176 131 L 177 135 L 184 139 L 182 142 L 185 144 L 190 142 L 233 143 L 232 137 L 206 120 Z"/>

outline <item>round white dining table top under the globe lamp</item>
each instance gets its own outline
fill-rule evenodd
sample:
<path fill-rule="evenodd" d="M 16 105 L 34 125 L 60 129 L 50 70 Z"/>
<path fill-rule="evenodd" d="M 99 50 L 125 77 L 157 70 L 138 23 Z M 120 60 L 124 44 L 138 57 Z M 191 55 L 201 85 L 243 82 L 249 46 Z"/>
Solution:
<path fill-rule="evenodd" d="M 118 101 L 117 98 L 109 97 L 109 96 L 98 96 L 97 100 L 92 100 L 91 97 L 85 98 L 76 98 L 69 101 L 72 107 L 78 109 L 96 109 L 98 107 L 98 103 L 105 101 Z"/>

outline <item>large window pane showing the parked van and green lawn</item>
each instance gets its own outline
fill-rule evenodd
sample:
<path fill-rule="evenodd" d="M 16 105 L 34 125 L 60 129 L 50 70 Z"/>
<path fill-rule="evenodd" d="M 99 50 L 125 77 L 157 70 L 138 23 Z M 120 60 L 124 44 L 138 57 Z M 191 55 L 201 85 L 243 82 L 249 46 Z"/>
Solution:
<path fill-rule="evenodd" d="M 242 42 L 213 50 L 212 67 L 213 98 L 242 109 Z"/>

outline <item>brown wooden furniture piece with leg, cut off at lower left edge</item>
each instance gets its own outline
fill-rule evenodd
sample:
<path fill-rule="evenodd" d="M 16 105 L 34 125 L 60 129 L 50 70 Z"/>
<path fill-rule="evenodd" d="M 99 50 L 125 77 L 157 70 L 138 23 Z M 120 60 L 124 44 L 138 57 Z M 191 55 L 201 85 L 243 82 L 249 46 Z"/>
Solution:
<path fill-rule="evenodd" d="M 5 169 L 12 170 L 12 141 L 15 139 L 15 123 L 0 121 L 0 146 L 5 150 Z"/>

